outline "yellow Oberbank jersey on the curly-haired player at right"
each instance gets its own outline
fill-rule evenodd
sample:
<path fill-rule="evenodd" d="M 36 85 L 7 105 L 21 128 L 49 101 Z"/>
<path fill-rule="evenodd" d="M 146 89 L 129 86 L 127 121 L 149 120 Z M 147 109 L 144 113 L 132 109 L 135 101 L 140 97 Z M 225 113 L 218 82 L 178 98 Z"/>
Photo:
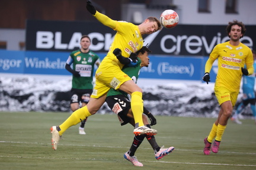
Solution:
<path fill-rule="evenodd" d="M 253 73 L 254 58 L 249 47 L 240 42 L 233 46 L 228 42 L 217 44 L 206 63 L 205 72 L 210 73 L 213 61 L 218 59 L 218 71 L 215 86 L 226 87 L 231 91 L 239 91 L 242 71 L 247 65 L 249 75 Z"/>

